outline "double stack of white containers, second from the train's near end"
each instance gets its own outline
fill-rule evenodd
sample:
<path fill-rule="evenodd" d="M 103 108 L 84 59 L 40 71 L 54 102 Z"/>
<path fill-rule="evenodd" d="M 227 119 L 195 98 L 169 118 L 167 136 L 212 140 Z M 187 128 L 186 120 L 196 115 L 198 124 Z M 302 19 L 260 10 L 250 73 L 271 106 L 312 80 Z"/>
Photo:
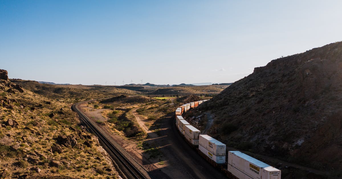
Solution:
<path fill-rule="evenodd" d="M 199 135 L 198 149 L 218 164 L 226 162 L 226 144 L 209 135 Z"/>

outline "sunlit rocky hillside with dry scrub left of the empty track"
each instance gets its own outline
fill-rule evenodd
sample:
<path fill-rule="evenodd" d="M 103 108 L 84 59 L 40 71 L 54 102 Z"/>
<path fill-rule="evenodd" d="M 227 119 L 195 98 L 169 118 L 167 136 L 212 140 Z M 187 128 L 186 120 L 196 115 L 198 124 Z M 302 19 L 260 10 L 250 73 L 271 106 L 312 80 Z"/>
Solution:
<path fill-rule="evenodd" d="M 0 70 L 0 178 L 116 178 L 70 105 L 33 93 Z"/>

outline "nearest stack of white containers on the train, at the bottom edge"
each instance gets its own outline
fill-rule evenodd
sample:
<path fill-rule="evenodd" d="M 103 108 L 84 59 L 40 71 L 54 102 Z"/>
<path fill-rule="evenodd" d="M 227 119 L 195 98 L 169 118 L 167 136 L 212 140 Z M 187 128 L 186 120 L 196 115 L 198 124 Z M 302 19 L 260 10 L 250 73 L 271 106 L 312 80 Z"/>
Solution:
<path fill-rule="evenodd" d="M 281 170 L 269 166 L 240 151 L 228 151 L 228 171 L 239 178 L 281 178 Z"/>

